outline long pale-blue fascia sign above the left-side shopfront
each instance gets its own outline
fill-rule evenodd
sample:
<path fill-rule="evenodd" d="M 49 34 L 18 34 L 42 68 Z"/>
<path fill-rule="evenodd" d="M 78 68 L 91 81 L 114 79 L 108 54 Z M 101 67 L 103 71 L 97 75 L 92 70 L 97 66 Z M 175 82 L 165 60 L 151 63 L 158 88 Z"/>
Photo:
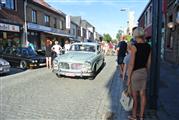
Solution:
<path fill-rule="evenodd" d="M 34 24 L 34 23 L 28 23 L 28 29 L 41 31 L 41 32 L 56 33 L 56 34 L 66 34 L 65 31 L 63 31 L 63 30 L 46 27 L 46 26 L 38 25 L 38 24 Z"/>

